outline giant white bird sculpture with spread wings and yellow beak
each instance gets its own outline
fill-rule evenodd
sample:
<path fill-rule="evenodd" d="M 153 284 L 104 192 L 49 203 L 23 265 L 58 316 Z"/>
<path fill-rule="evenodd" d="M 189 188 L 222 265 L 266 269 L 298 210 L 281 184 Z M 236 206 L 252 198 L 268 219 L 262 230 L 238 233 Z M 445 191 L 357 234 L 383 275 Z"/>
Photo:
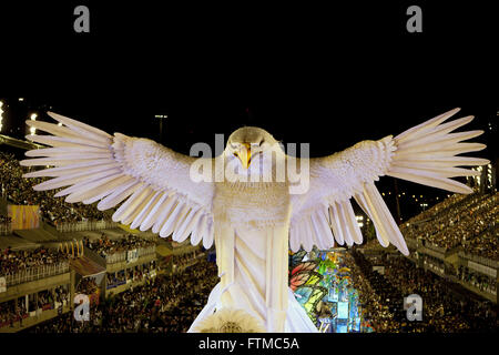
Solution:
<path fill-rule="evenodd" d="M 52 190 L 69 186 L 55 196 L 70 203 L 99 202 L 99 210 L 118 207 L 113 221 L 141 231 L 152 229 L 166 237 L 208 248 L 216 247 L 220 283 L 210 294 L 196 326 L 221 310 L 240 310 L 263 325 L 266 332 L 317 332 L 288 287 L 288 248 L 314 245 L 325 250 L 337 244 L 359 244 L 363 235 L 350 199 L 373 221 L 383 246 L 394 244 L 404 255 L 408 250 L 374 182 L 383 175 L 399 178 L 457 193 L 471 193 L 467 185 L 451 180 L 478 172 L 456 168 L 487 164 L 485 159 L 457 156 L 479 151 L 480 143 L 460 143 L 482 131 L 450 133 L 472 116 L 444 123 L 455 109 L 393 138 L 363 141 L 343 152 L 299 161 L 309 166 L 309 187 L 291 193 L 288 179 L 241 181 L 192 179 L 196 158 L 176 153 L 146 139 L 110 135 L 75 120 L 49 114 L 51 124 L 27 121 L 51 134 L 28 139 L 52 148 L 28 151 L 24 166 L 51 165 L 24 174 L 26 178 L 54 178 L 34 186 Z M 62 124 L 62 125 L 61 125 Z M 262 174 L 272 166 L 273 179 L 279 162 L 291 156 L 266 131 L 242 128 L 228 139 L 223 154 L 204 162 L 237 165 L 236 176 Z M 274 150 L 269 160 L 266 152 Z M 215 174 L 213 174 L 214 176 Z M 253 176 L 253 175 L 252 175 Z M 218 176 L 220 178 L 220 176 Z M 232 312 L 231 311 L 231 312 Z"/>

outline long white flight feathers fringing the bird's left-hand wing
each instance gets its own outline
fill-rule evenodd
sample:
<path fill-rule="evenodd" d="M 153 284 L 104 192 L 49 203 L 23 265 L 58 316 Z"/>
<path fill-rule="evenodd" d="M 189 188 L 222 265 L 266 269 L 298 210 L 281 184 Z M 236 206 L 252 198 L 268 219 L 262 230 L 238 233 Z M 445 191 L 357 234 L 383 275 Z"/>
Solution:
<path fill-rule="evenodd" d="M 130 162 L 126 152 L 135 139 L 120 133 L 111 136 L 85 123 L 48 113 L 62 124 L 28 120 L 29 126 L 52 135 L 31 134 L 27 139 L 51 148 L 28 151 L 26 155 L 33 159 L 20 162 L 23 166 L 54 166 L 23 175 L 54 178 L 33 186 L 35 191 L 64 187 L 54 196 L 65 196 L 69 203 L 99 202 L 100 211 L 121 204 L 112 216 L 114 222 L 130 224 L 141 231 L 152 227 L 162 237 L 173 233 L 173 240 L 179 242 L 192 235 L 194 245 L 202 240 L 206 248 L 213 244 L 212 217 L 205 209 L 181 199 L 170 185 L 151 183 L 141 175 L 143 171 L 139 171 L 138 175 L 136 166 Z M 146 148 L 157 151 L 154 144 L 151 142 Z M 164 156 L 155 158 L 161 160 Z M 165 170 L 169 170 L 167 166 Z M 164 174 L 163 171 L 157 173 Z"/>

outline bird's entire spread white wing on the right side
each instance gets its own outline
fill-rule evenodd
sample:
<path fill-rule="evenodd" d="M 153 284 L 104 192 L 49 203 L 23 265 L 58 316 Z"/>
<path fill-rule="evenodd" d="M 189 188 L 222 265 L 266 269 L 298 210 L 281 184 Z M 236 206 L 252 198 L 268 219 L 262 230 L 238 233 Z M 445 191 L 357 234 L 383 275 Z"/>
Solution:
<path fill-rule="evenodd" d="M 393 138 L 364 141 L 326 158 L 310 159 L 310 182 L 306 194 L 292 195 L 293 214 L 289 245 L 296 252 L 301 245 L 310 251 L 346 243 L 360 244 L 363 235 L 350 199 L 354 197 L 373 221 L 379 243 L 394 244 L 408 255 L 406 242 L 374 182 L 389 175 L 457 193 L 471 193 L 467 185 L 449 178 L 479 174 L 456 168 L 488 164 L 486 159 L 456 156 L 480 151 L 480 143 L 459 143 L 483 131 L 450 133 L 469 123 L 466 116 L 442 124 L 458 112 L 451 110 Z"/>

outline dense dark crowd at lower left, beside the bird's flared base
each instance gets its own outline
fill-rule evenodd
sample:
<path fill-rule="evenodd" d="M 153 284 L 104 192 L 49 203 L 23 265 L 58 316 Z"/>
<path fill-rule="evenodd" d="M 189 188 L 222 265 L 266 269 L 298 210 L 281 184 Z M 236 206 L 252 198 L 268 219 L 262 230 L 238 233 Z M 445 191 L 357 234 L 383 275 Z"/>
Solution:
<path fill-rule="evenodd" d="M 200 262 L 173 276 L 149 278 L 142 286 L 91 306 L 89 322 L 65 314 L 29 329 L 34 333 L 184 333 L 218 281 L 216 265 Z"/>

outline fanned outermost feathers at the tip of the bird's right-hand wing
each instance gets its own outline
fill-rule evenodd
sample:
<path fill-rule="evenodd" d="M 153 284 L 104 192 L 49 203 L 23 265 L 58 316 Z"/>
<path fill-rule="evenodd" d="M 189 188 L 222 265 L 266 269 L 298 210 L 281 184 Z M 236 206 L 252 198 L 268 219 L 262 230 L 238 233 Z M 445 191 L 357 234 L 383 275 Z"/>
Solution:
<path fill-rule="evenodd" d="M 444 123 L 459 110 L 454 109 L 397 135 L 394 139 L 396 151 L 387 175 L 451 192 L 471 193 L 472 189 L 449 178 L 478 175 L 477 171 L 457 166 L 485 165 L 489 160 L 457 156 L 486 148 L 481 143 L 461 142 L 483 131 L 450 133 L 473 119 L 466 116 Z"/>

